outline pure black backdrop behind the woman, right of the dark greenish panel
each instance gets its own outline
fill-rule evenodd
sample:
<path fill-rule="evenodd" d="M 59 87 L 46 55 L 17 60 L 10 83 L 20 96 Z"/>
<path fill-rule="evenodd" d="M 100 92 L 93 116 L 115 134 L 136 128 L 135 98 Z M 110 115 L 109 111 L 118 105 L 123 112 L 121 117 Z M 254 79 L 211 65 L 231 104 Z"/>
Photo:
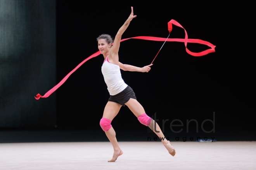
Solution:
<path fill-rule="evenodd" d="M 242 1 L 57 0 L 56 6 L 56 82 L 98 51 L 96 38 L 100 34 L 114 37 L 133 6 L 137 17 L 131 21 L 122 39 L 135 36 L 166 38 L 169 35 L 167 23 L 174 19 L 185 28 L 189 39 L 201 39 L 216 46 L 216 52 L 194 57 L 185 51 L 184 43 L 166 42 L 149 73 L 121 71 L 146 113 L 149 116 L 156 113 L 160 127 L 162 120 L 170 120 L 164 127 L 166 136 L 173 141 L 176 136 L 214 136 L 219 141 L 255 140 L 255 17 L 252 4 Z M 169 38 L 184 37 L 184 30 L 173 26 Z M 161 41 L 138 39 L 121 42 L 119 61 L 139 67 L 149 65 L 162 45 Z M 192 43 L 188 43 L 187 48 L 192 52 L 209 49 Z M 99 126 L 109 98 L 101 73 L 103 60 L 102 55 L 88 60 L 55 92 L 57 124 L 50 129 L 77 133 L 76 137 L 69 136 L 66 140 L 107 140 Z M 200 125 L 205 119 L 213 120 L 213 113 L 215 133 L 204 133 Z M 184 123 L 182 133 L 170 131 L 168 125 L 174 119 Z M 192 123 L 186 133 L 187 119 L 198 121 L 199 133 L 195 132 Z M 147 128 L 137 121 L 128 107 L 121 108 L 112 126 L 119 140 L 146 141 L 145 136 L 154 137 L 147 134 Z M 204 127 L 211 130 L 213 124 L 206 122 Z"/>

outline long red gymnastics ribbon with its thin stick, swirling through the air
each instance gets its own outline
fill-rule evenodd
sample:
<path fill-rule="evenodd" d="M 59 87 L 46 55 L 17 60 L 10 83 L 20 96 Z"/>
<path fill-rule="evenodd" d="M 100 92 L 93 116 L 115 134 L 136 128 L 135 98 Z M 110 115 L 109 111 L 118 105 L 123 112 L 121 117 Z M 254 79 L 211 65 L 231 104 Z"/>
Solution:
<path fill-rule="evenodd" d="M 170 20 L 170 22 L 168 22 L 168 31 L 171 32 L 172 30 L 172 24 L 175 25 L 175 26 L 178 26 L 178 27 L 181 27 L 183 28 L 177 21 L 175 20 Z M 183 28 L 184 29 L 184 28 Z M 207 41 L 203 41 L 201 39 L 188 39 L 188 35 L 187 35 L 187 31 L 184 29 L 185 31 L 185 39 L 179 39 L 179 38 L 168 38 L 170 36 L 167 37 L 167 39 L 165 38 L 161 38 L 161 37 L 149 37 L 149 36 L 138 36 L 138 37 L 131 37 L 131 38 L 126 38 L 126 39 L 122 39 L 122 41 L 126 41 L 128 39 L 143 39 L 143 40 L 149 40 L 149 41 L 164 41 L 164 43 L 166 41 L 169 41 L 169 42 L 172 42 L 172 41 L 175 41 L 175 42 L 184 42 L 185 43 L 185 48 L 186 48 L 186 51 L 187 53 L 189 53 L 190 55 L 192 56 L 195 56 L 195 57 L 199 57 L 199 56 L 204 56 L 206 54 L 209 54 L 209 53 L 213 53 L 215 52 L 215 47 L 213 44 L 211 44 L 210 42 L 207 42 Z M 207 45 L 209 46 L 211 49 L 206 49 L 204 51 L 201 51 L 199 53 L 194 53 L 192 51 L 190 51 L 189 49 L 187 49 L 187 43 L 190 42 L 190 43 L 198 43 L 198 44 L 204 44 L 204 45 Z M 163 44 L 164 45 L 164 44 Z M 163 47 L 163 46 L 162 46 Z M 162 48 L 161 47 L 161 48 Z M 160 48 L 160 50 L 161 50 Z M 159 50 L 159 51 L 160 51 Z M 159 53 L 159 52 L 158 52 Z M 157 54 L 158 54 L 157 53 Z M 86 58 L 84 61 L 82 61 L 78 66 L 76 66 L 76 68 L 74 68 L 70 73 L 68 73 L 62 80 L 61 82 L 59 82 L 57 85 L 55 85 L 52 89 L 50 89 L 47 93 L 45 93 L 45 95 L 40 95 L 39 93 L 36 95 L 35 99 L 36 100 L 39 100 L 40 98 L 46 98 L 46 97 L 49 97 L 53 92 L 55 92 L 55 90 L 57 90 L 57 88 L 59 88 L 64 82 L 66 82 L 67 78 L 72 74 L 74 73 L 74 71 L 76 71 L 81 65 L 83 65 L 86 61 L 88 61 L 89 59 L 92 59 L 96 56 L 99 56 L 100 55 L 100 51 L 92 54 L 91 56 L 89 56 L 88 58 Z M 155 57 L 156 58 L 156 57 Z M 154 59 L 155 59 L 154 58 Z M 153 60 L 154 61 L 154 60 Z M 152 61 L 152 63 L 153 63 Z"/>

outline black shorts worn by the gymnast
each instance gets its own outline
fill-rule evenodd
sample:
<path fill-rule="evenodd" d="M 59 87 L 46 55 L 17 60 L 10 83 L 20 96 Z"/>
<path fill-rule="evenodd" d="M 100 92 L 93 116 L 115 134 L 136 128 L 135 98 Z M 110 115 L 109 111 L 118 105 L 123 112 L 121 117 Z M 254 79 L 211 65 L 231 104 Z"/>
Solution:
<path fill-rule="evenodd" d="M 125 106 L 125 103 L 128 102 L 130 98 L 136 99 L 136 96 L 132 88 L 130 86 L 127 86 L 122 92 L 116 95 L 110 95 L 109 102 L 116 102 Z"/>

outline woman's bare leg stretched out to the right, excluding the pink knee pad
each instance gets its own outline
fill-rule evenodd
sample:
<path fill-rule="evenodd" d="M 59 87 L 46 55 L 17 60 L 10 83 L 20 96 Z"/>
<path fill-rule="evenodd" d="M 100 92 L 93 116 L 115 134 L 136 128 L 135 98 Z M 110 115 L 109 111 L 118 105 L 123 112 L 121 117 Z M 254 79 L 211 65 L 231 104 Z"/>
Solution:
<path fill-rule="evenodd" d="M 125 105 L 127 105 L 129 107 L 131 112 L 133 112 L 133 114 L 137 118 L 140 117 L 142 114 L 145 114 L 144 108 L 142 107 L 142 105 L 136 99 L 131 98 L 128 102 L 125 103 Z M 144 116 L 147 116 L 147 115 L 144 115 Z M 168 152 L 172 156 L 174 156 L 175 153 L 176 153 L 175 149 L 171 145 L 170 141 L 168 141 L 165 138 L 165 136 L 164 136 L 162 130 L 160 129 L 159 125 L 157 124 L 157 122 L 155 122 L 154 119 L 151 119 L 151 118 L 149 119 L 149 121 L 152 121 L 152 122 L 150 124 L 149 124 L 149 122 L 144 123 L 144 125 L 148 126 L 150 129 L 152 129 L 152 131 L 154 131 L 154 133 L 156 133 L 156 135 L 161 139 L 161 142 L 163 143 L 165 148 L 168 150 Z M 151 126 L 149 126 L 149 125 L 151 125 Z M 154 126 L 156 126 L 156 127 L 154 127 Z"/>

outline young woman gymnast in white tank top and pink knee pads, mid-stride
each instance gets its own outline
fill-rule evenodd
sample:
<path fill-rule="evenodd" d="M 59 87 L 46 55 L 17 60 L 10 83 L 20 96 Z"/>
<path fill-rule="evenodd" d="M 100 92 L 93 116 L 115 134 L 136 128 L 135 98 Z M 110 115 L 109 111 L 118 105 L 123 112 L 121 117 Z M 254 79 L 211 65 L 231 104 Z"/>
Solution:
<path fill-rule="evenodd" d="M 110 97 L 106 104 L 106 107 L 103 112 L 102 119 L 100 119 L 100 126 L 105 131 L 107 138 L 111 142 L 114 148 L 114 154 L 111 160 L 108 162 L 115 162 L 118 156 L 123 154 L 123 151 L 118 145 L 118 141 L 116 139 L 116 132 L 111 126 L 111 121 L 114 117 L 118 114 L 122 105 L 126 105 L 131 112 L 138 118 L 140 123 L 144 124 L 145 126 L 155 125 L 156 127 L 149 126 L 157 136 L 163 140 L 162 143 L 168 152 L 174 156 L 175 149 L 171 145 L 170 141 L 168 141 L 164 134 L 162 133 L 159 125 L 151 119 L 145 113 L 144 108 L 142 105 L 137 101 L 135 93 L 129 87 L 121 77 L 121 71 L 139 71 L 139 72 L 149 72 L 150 66 L 147 65 L 142 68 L 122 64 L 119 62 L 119 46 L 121 41 L 121 36 L 129 26 L 131 20 L 137 17 L 137 15 L 133 15 L 133 7 L 131 7 L 131 14 L 123 24 L 123 26 L 118 30 L 116 37 L 114 38 L 114 42 L 112 41 L 111 36 L 107 34 L 102 34 L 97 38 L 98 41 L 98 48 L 100 53 L 104 56 L 104 63 L 102 64 L 102 74 L 104 76 L 104 80 L 107 84 L 107 89 L 109 91 Z M 113 43 L 113 44 L 112 44 Z"/>

